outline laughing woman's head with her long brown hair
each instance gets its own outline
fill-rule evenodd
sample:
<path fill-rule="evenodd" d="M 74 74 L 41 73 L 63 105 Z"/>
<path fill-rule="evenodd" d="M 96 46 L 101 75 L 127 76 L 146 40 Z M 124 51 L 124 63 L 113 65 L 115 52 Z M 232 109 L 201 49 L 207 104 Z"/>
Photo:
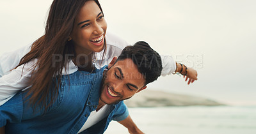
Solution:
<path fill-rule="evenodd" d="M 88 24 L 91 26 L 79 27 L 79 22 L 84 20 L 90 20 Z M 100 36 L 105 37 L 105 34 L 106 22 L 98 1 L 53 1 L 44 36 L 31 45 L 31 50 L 16 66 L 16 69 L 19 69 L 23 64 L 32 62 L 30 65 L 33 71 L 25 73 L 30 76 L 23 82 L 28 86 L 31 85 L 27 90 L 28 95 L 32 95 L 29 101 L 35 106 L 42 103 L 47 111 L 54 100 L 54 96 L 50 97 L 49 93 L 58 95 L 58 92 L 49 89 L 52 76 L 60 79 L 61 72 L 63 69 L 66 70 L 64 67 L 68 61 L 78 61 L 75 60 L 76 57 L 79 57 L 79 61 L 74 64 L 80 70 L 93 70 L 93 52 L 102 51 L 106 43 L 102 40 L 101 43 L 95 45 L 91 40 Z M 66 58 L 67 54 L 70 57 Z M 81 58 L 80 54 L 88 56 L 88 61 Z M 56 57 L 52 55 L 58 56 L 60 60 L 54 59 Z M 62 59 L 62 57 L 65 58 Z M 83 64 L 88 64 L 88 66 L 79 66 Z M 26 66 L 23 71 L 29 71 L 26 70 L 28 68 L 29 66 Z M 51 98 L 51 103 L 47 103 L 46 98 Z"/>

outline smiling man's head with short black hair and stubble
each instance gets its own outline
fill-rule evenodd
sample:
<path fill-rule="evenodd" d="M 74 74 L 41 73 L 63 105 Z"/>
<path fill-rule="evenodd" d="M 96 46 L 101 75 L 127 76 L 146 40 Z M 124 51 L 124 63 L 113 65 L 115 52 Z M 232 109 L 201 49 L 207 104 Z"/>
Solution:
<path fill-rule="evenodd" d="M 161 70 L 161 57 L 144 41 L 126 47 L 104 73 L 99 102 L 111 104 L 131 98 L 156 80 Z"/>

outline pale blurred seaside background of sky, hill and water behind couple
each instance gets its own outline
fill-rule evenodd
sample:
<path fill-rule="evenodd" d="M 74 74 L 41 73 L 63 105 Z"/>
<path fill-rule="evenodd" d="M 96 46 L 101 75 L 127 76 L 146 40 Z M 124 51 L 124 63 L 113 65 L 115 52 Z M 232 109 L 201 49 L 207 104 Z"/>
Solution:
<path fill-rule="evenodd" d="M 256 1 L 99 1 L 108 31 L 131 44 L 147 41 L 160 54 L 198 71 L 198 81 L 189 86 L 179 75 L 149 84 L 148 93 L 161 93 L 157 97 L 164 100 L 147 91 L 140 93 L 144 100 L 134 96 L 129 111 L 142 131 L 256 133 Z M 0 54 L 42 36 L 51 3 L 0 1 Z M 168 103 L 157 105 L 163 101 Z M 113 121 L 106 133 L 128 132 Z"/>

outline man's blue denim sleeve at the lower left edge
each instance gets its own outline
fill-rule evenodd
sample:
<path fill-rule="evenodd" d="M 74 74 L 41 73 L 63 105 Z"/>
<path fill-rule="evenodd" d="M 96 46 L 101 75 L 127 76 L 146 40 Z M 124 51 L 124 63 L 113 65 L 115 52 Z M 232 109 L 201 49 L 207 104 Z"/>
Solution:
<path fill-rule="evenodd" d="M 0 127 L 6 123 L 20 123 L 23 114 L 23 101 L 21 91 L 9 101 L 0 106 Z"/>

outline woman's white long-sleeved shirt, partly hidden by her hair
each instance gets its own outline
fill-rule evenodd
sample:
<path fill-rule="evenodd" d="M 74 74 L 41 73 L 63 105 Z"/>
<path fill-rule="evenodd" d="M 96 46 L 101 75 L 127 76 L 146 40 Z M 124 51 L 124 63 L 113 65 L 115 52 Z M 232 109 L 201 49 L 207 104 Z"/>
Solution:
<path fill-rule="evenodd" d="M 115 34 L 106 33 L 106 54 L 102 58 L 104 50 L 96 53 L 97 62 L 95 66 L 101 68 L 109 64 L 113 57 L 120 56 L 122 50 L 127 45 L 129 45 L 129 43 Z M 12 69 L 19 64 L 20 59 L 25 56 L 30 49 L 31 47 L 29 45 L 13 52 L 5 53 L 0 57 L 0 106 L 10 100 L 19 90 L 26 89 L 29 86 L 28 80 L 31 77 L 31 68 L 36 63 L 36 59 L 14 70 Z M 170 75 L 176 70 L 176 63 L 172 56 L 161 56 L 161 59 L 163 66 L 162 76 Z M 77 71 L 77 67 L 70 61 L 68 63 L 67 73 L 70 74 L 75 71 Z M 63 74 L 65 74 L 65 72 L 63 72 Z"/>

